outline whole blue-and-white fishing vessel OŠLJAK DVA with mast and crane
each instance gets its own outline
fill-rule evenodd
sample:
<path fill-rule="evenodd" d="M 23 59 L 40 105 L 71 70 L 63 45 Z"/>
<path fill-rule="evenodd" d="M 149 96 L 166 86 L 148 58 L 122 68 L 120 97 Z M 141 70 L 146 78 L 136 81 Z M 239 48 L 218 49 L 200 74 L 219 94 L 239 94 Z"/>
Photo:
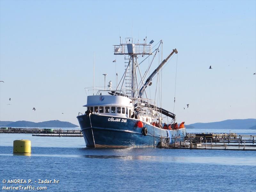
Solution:
<path fill-rule="evenodd" d="M 176 49 L 164 59 L 158 62 L 158 67 L 149 75 L 149 69 L 162 51 L 162 40 L 154 47 L 152 52 L 152 40 L 147 44 L 133 42 L 133 38 L 125 38 L 125 43 L 113 45 L 114 55 L 124 55 L 125 71 L 116 87 L 109 82 L 107 88 L 85 88 L 87 103 L 85 113 L 77 116 L 85 144 L 92 148 L 145 148 L 179 146 L 186 136 L 186 128 L 171 129 L 175 123 L 175 114 L 158 107 L 156 99 L 149 99 L 146 88 L 153 82 L 160 69 Z M 152 58 L 146 71 L 140 70 L 143 62 Z M 142 60 L 139 62 L 139 60 Z M 160 60 L 161 61 L 161 60 Z M 106 74 L 103 74 L 106 77 Z M 148 76 L 149 75 L 149 76 Z M 148 78 L 147 78 L 148 76 Z M 164 117 L 172 121 L 164 123 Z"/>

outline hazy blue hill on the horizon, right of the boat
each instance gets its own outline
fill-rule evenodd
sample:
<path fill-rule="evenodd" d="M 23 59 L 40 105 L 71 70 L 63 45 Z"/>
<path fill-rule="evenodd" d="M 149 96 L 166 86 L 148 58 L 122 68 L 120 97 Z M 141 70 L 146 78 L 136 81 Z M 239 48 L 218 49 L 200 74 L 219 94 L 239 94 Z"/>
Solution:
<path fill-rule="evenodd" d="M 228 119 L 211 123 L 194 123 L 186 125 L 186 128 L 196 129 L 256 129 L 256 119 Z"/>

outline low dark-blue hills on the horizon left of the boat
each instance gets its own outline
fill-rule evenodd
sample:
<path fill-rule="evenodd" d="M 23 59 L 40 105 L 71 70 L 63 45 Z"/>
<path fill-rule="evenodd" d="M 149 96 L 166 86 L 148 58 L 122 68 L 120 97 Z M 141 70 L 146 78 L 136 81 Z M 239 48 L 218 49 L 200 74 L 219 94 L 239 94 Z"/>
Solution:
<path fill-rule="evenodd" d="M 4 122 L 4 123 L 2 123 Z M 78 127 L 78 125 L 66 122 L 66 121 L 59 121 L 59 120 L 52 120 L 52 121 L 43 121 L 39 123 L 31 122 L 31 121 L 16 121 L 9 124 L 5 122 L 8 121 L 1 121 L 1 126 L 6 127 L 60 127 L 60 128 L 72 128 Z"/>

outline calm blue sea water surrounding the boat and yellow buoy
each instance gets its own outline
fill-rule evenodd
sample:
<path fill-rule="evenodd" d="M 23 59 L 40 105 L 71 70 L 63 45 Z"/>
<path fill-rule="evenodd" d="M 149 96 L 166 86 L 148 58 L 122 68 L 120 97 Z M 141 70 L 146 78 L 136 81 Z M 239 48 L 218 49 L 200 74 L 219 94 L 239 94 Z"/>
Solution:
<path fill-rule="evenodd" d="M 254 132 L 251 130 L 251 133 Z M 30 156 L 12 154 L 13 140 L 16 139 L 31 140 Z M 3 184 L 2 180 L 9 179 L 60 181 L 55 184 Z M 85 148 L 84 139 L 80 137 L 0 134 L 1 191 L 4 185 L 47 187 L 46 191 L 53 192 L 255 192 L 256 151 L 91 149 Z"/>

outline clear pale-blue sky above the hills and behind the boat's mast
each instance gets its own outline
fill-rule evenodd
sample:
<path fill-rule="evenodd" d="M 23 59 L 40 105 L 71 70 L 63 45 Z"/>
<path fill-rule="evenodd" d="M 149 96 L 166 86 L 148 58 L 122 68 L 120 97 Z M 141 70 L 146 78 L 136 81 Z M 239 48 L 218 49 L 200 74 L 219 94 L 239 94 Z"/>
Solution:
<path fill-rule="evenodd" d="M 112 46 L 120 35 L 163 39 L 164 58 L 177 48 L 162 105 L 173 111 L 177 61 L 178 122 L 256 118 L 255 34 L 255 1 L 0 1 L 0 120 L 78 124 L 93 52 L 95 86 L 124 72 Z"/>

